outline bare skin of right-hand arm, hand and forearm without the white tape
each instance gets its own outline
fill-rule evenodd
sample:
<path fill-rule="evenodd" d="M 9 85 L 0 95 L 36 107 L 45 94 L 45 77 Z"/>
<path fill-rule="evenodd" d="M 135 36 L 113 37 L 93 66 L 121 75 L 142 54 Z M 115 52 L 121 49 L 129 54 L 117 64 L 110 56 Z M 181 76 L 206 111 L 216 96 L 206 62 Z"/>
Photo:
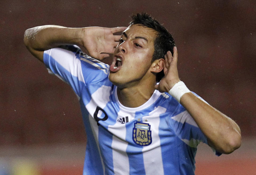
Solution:
<path fill-rule="evenodd" d="M 165 77 L 155 88 L 161 92 L 168 92 L 179 82 L 177 48 L 174 54 L 168 51 L 165 56 Z M 238 125 L 228 116 L 214 107 L 203 102 L 193 93 L 182 95 L 180 103 L 193 117 L 201 131 L 205 134 L 208 144 L 221 153 L 229 154 L 241 146 L 241 131 Z"/>

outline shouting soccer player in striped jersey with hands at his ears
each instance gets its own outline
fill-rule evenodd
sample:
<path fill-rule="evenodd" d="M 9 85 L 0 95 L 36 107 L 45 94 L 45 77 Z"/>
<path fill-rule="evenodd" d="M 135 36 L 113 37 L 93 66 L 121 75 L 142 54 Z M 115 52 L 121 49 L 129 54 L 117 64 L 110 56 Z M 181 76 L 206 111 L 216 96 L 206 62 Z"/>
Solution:
<path fill-rule="evenodd" d="M 238 125 L 179 80 L 173 37 L 148 14 L 128 28 L 34 27 L 24 43 L 79 97 L 84 174 L 194 174 L 199 142 L 216 155 L 241 145 Z"/>

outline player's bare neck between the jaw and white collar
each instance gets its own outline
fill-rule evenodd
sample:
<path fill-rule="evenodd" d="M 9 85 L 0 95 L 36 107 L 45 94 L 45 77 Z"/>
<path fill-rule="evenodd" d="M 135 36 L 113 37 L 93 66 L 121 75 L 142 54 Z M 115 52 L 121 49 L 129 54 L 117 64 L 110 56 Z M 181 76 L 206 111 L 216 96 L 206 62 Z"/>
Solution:
<path fill-rule="evenodd" d="M 117 88 L 120 103 L 126 107 L 139 107 L 146 103 L 155 91 L 156 82 L 138 84 L 127 88 Z"/>

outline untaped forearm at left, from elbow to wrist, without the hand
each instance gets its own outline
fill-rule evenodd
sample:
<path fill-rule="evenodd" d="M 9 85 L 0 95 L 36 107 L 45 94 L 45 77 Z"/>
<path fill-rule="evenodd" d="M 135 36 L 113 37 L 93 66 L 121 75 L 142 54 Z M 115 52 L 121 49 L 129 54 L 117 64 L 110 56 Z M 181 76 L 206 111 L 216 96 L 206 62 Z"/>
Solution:
<path fill-rule="evenodd" d="M 83 28 L 45 25 L 27 29 L 24 43 L 30 49 L 43 51 L 65 44 L 82 45 L 83 35 Z"/>

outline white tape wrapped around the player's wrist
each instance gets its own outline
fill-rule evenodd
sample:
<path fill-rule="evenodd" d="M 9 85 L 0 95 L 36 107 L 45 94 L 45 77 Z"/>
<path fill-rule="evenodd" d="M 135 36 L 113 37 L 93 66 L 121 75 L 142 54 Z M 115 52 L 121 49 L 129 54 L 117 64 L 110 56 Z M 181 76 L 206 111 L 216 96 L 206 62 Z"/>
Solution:
<path fill-rule="evenodd" d="M 187 88 L 185 83 L 183 81 L 179 81 L 169 90 L 168 93 L 180 102 L 181 96 L 188 92 L 190 92 L 190 90 Z"/>

